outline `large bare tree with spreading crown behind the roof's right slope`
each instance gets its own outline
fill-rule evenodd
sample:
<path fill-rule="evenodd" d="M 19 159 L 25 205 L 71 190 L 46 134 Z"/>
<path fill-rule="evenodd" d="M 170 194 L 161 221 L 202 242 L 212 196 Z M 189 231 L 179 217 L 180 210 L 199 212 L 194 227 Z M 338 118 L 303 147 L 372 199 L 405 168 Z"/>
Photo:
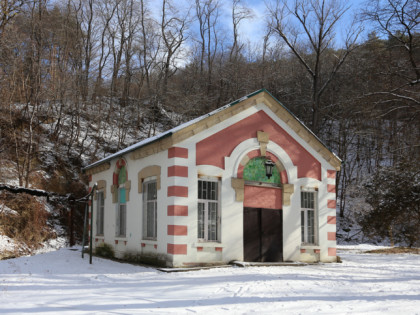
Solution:
<path fill-rule="evenodd" d="M 306 69 L 311 81 L 312 129 L 319 132 L 321 97 L 348 55 L 357 47 L 360 28 L 352 27 L 346 34 L 344 47 L 334 52 L 335 61 L 329 65 L 328 54 L 334 48 L 338 22 L 349 7 L 334 0 L 277 0 L 268 6 L 270 27 L 287 45 Z"/>

